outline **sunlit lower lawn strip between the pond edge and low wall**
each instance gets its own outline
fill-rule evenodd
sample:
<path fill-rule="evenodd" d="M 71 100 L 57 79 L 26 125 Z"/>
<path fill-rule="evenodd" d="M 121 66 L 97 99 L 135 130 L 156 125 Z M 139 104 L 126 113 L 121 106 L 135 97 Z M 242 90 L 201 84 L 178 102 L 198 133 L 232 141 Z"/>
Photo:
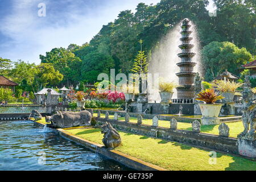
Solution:
<path fill-rule="evenodd" d="M 69 133 L 101 143 L 100 129 L 73 129 Z M 169 170 L 256 170 L 256 162 L 217 153 L 217 164 L 209 164 L 209 151 L 177 142 L 119 131 L 121 146 L 115 150 Z"/>

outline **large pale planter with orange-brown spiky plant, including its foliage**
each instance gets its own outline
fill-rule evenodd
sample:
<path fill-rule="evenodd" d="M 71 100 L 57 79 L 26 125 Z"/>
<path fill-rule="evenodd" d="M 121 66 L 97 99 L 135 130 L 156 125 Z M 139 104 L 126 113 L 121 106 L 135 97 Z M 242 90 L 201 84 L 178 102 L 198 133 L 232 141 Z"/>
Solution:
<path fill-rule="evenodd" d="M 201 118 L 202 125 L 214 125 L 219 124 L 222 104 L 215 104 L 216 101 L 224 98 L 220 92 L 216 92 L 214 89 L 205 89 L 197 94 L 196 100 L 203 101 L 204 104 L 199 104 L 203 117 Z"/>

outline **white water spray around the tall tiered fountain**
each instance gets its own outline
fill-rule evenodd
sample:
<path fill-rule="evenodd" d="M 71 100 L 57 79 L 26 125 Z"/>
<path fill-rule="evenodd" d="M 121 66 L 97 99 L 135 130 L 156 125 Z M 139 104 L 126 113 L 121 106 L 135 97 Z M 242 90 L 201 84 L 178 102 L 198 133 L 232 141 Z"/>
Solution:
<path fill-rule="evenodd" d="M 182 21 L 181 21 L 182 22 Z M 180 40 L 181 22 L 172 28 L 164 38 L 160 40 L 158 46 L 152 51 L 149 72 L 152 74 L 152 81 L 148 80 L 148 93 L 150 102 L 160 102 L 158 80 L 154 80 L 154 74 L 159 74 L 159 77 L 164 78 L 164 81 L 179 82 L 179 78 L 176 73 L 179 72 L 179 67 L 176 65 L 180 61 L 180 57 L 177 55 L 181 53 L 179 46 L 182 44 Z M 192 22 L 191 24 L 191 44 L 193 44 L 192 52 L 196 55 L 192 58 L 192 61 L 197 63 L 193 69 L 193 72 L 199 72 L 201 76 L 201 54 L 200 54 L 200 40 L 197 35 L 196 26 Z M 177 91 L 174 89 L 173 98 L 177 98 Z"/>

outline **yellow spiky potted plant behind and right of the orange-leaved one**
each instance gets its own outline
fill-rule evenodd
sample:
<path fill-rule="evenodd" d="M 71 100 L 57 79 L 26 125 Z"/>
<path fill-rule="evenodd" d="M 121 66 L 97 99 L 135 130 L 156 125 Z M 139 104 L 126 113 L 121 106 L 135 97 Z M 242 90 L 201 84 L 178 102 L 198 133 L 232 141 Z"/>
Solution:
<path fill-rule="evenodd" d="M 225 102 L 234 102 L 233 100 L 236 89 L 242 85 L 243 83 L 226 80 L 218 80 L 215 84 L 213 84 L 217 90 L 220 90 Z"/>

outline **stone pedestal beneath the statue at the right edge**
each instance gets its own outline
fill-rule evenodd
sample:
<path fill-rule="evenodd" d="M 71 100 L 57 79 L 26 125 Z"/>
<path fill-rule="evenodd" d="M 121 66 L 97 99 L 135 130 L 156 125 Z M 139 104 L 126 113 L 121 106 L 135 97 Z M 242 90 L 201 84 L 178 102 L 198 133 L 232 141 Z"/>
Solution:
<path fill-rule="evenodd" d="M 256 158 L 256 140 L 238 138 L 238 151 L 240 155 Z"/>

